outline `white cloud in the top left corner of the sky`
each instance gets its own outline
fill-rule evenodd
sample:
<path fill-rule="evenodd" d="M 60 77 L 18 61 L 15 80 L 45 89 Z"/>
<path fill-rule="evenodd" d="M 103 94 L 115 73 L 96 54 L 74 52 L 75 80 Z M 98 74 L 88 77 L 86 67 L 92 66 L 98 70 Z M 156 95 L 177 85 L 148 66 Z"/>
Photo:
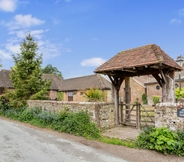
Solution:
<path fill-rule="evenodd" d="M 0 10 L 13 12 L 17 7 L 17 0 L 0 0 Z"/>

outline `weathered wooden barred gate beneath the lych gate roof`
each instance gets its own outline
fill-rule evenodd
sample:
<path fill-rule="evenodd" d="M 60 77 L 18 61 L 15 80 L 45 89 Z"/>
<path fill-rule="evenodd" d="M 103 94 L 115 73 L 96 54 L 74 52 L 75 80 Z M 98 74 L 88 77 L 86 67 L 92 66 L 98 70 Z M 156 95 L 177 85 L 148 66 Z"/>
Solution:
<path fill-rule="evenodd" d="M 154 109 L 145 108 L 140 103 L 120 104 L 120 123 L 141 129 L 143 126 L 154 126 Z"/>

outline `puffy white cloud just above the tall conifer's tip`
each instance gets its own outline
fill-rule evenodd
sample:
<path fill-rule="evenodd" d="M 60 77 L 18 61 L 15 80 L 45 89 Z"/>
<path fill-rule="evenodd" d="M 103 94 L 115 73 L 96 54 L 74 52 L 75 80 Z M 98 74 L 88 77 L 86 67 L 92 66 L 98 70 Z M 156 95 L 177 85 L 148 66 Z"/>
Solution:
<path fill-rule="evenodd" d="M 6 24 L 9 30 L 16 30 L 20 28 L 29 28 L 31 26 L 41 25 L 45 21 L 32 17 L 32 15 L 15 15 L 14 19 Z"/>

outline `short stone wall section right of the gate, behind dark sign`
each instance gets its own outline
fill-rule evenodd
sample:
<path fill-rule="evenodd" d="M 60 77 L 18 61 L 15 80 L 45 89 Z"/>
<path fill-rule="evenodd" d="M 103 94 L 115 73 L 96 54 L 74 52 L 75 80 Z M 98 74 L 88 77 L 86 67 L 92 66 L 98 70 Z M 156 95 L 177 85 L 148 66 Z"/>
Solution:
<path fill-rule="evenodd" d="M 155 107 L 155 127 L 167 127 L 170 130 L 184 130 L 184 118 L 178 117 L 179 103 L 159 103 Z"/>

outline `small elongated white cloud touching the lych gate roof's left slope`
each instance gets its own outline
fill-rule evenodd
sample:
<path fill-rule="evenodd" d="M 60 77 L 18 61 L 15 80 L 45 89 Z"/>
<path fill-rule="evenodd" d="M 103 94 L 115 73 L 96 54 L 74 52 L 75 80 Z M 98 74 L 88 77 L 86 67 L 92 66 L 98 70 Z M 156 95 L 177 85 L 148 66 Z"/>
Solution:
<path fill-rule="evenodd" d="M 102 58 L 91 58 L 91 59 L 83 60 L 81 62 L 81 65 L 82 66 L 100 66 L 105 61 L 106 60 L 104 60 Z"/>

